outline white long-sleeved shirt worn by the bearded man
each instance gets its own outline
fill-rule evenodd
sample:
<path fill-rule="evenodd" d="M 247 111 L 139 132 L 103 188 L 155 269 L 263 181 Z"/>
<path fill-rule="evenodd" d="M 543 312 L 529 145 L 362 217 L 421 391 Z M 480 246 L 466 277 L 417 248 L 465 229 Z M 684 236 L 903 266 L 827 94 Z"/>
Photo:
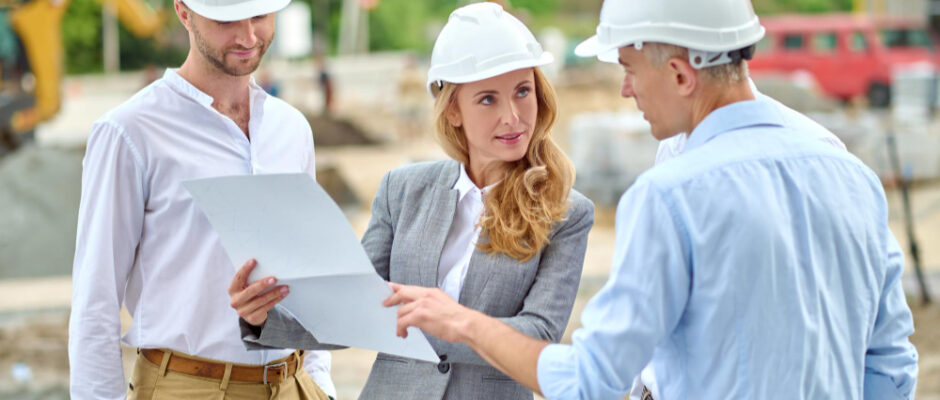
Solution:
<path fill-rule="evenodd" d="M 167 70 L 92 128 L 83 161 L 73 267 L 69 362 L 73 399 L 123 399 L 120 341 L 204 358 L 265 364 L 291 350 L 248 351 L 229 306 L 235 267 L 182 182 L 226 175 L 306 172 L 315 177 L 304 116 L 250 87 L 251 140 L 213 98 Z M 335 396 L 330 354 L 306 369 Z"/>

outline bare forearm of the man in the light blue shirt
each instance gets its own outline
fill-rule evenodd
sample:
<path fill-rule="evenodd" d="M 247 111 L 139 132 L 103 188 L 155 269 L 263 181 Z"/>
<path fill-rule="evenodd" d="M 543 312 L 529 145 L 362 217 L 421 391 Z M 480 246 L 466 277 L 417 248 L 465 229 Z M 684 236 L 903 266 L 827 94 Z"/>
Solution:
<path fill-rule="evenodd" d="M 466 322 L 461 343 L 469 346 L 486 362 L 535 393 L 541 394 L 537 366 L 539 354 L 548 342 L 533 339 L 506 323 L 472 311 Z"/>

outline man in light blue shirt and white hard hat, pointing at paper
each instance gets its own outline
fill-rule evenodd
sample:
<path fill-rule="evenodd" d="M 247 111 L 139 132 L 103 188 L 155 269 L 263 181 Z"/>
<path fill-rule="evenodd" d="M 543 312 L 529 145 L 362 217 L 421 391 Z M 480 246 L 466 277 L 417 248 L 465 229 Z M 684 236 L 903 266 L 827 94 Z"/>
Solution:
<path fill-rule="evenodd" d="M 663 399 L 909 399 L 917 352 L 903 253 L 877 177 L 755 100 L 746 61 L 764 34 L 747 0 L 606 0 L 581 55 L 617 59 L 682 154 L 617 211 L 611 277 L 571 345 L 549 345 L 394 286 L 399 334 L 470 345 L 548 399 L 619 399 L 652 361 Z"/>

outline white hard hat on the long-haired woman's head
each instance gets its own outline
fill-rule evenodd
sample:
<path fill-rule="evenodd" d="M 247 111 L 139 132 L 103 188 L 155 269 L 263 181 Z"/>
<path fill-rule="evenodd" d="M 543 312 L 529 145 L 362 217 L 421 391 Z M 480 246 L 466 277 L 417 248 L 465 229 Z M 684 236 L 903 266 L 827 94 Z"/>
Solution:
<path fill-rule="evenodd" d="M 450 14 L 434 42 L 428 92 L 434 96 L 441 82 L 475 82 L 553 60 L 522 21 L 499 4 L 470 4 Z"/>

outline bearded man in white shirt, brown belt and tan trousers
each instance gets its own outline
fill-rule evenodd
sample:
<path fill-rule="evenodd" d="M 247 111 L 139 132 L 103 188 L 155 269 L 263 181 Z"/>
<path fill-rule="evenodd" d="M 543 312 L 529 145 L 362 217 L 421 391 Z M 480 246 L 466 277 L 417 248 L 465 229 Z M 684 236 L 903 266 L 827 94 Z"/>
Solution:
<path fill-rule="evenodd" d="M 186 61 L 94 125 L 73 270 L 73 399 L 334 393 L 329 353 L 245 349 L 228 305 L 234 268 L 182 186 L 223 175 L 314 175 L 306 119 L 250 77 L 274 37 L 274 13 L 289 2 L 177 0 L 189 31 Z M 140 349 L 129 383 L 122 304 L 133 317 L 123 342 Z"/>

